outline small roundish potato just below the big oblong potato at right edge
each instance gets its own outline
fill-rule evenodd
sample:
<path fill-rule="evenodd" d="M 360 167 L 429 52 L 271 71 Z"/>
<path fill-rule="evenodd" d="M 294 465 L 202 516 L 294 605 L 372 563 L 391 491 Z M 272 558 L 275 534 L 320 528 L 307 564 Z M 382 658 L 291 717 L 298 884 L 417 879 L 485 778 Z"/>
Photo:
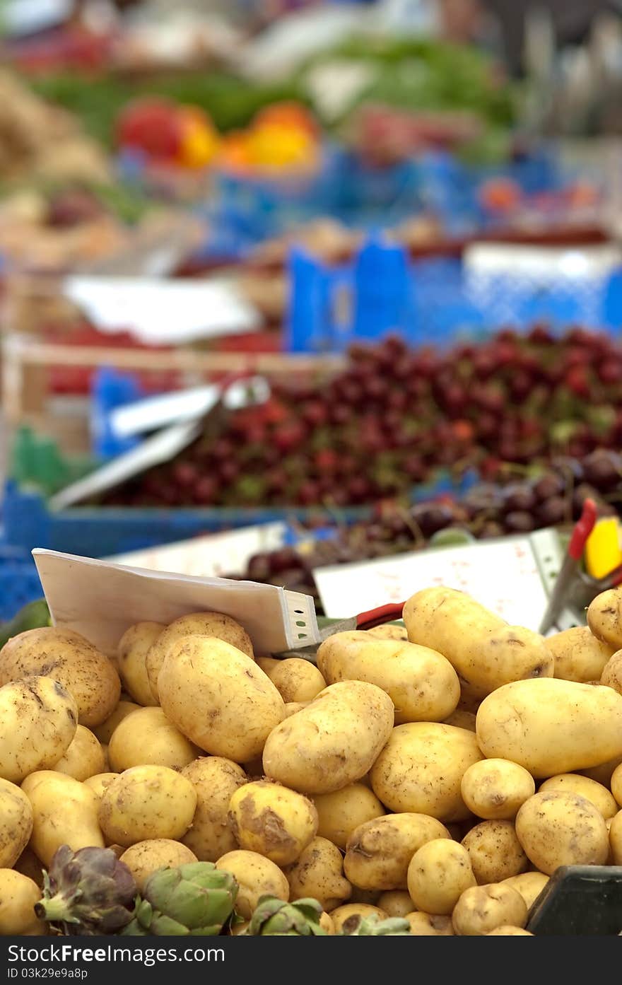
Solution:
<path fill-rule="evenodd" d="M 535 793 L 533 777 L 508 759 L 482 759 L 469 766 L 460 785 L 469 811 L 484 821 L 512 821 Z"/>

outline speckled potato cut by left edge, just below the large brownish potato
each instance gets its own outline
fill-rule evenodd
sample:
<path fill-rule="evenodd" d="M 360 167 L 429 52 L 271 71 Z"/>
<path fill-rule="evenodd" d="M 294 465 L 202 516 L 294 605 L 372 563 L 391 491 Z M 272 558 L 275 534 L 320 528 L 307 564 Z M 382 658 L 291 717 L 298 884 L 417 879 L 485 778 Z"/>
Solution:
<path fill-rule="evenodd" d="M 58 762 L 78 727 L 78 707 L 57 681 L 32 677 L 0 688 L 0 777 L 20 783 Z"/>

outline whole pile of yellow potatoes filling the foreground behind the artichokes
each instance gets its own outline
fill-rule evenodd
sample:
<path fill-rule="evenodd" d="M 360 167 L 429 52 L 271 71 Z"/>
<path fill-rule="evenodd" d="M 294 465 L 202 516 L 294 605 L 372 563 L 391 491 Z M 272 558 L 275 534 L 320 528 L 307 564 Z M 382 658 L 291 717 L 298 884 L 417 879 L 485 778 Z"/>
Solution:
<path fill-rule="evenodd" d="M 544 639 L 435 587 L 317 666 L 218 613 L 139 623 L 116 656 L 45 627 L 0 651 L 0 934 L 40 934 L 56 849 L 112 846 L 139 888 L 215 862 L 412 935 L 528 935 L 564 865 L 622 865 L 622 590 Z M 235 932 L 244 928 L 236 927 Z"/>

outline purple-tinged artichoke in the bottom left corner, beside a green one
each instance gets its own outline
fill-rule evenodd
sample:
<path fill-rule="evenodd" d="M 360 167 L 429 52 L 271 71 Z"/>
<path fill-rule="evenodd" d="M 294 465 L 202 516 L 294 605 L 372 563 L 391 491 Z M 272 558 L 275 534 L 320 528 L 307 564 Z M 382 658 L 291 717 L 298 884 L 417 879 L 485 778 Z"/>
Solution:
<path fill-rule="evenodd" d="M 43 897 L 34 912 L 66 935 L 114 934 L 130 922 L 137 888 L 110 848 L 61 845 L 43 873 Z"/>

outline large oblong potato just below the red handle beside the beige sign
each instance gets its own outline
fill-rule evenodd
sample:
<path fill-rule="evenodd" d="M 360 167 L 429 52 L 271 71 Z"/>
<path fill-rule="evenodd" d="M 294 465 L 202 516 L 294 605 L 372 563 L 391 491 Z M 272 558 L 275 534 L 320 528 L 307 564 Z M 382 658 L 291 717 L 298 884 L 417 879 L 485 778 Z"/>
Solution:
<path fill-rule="evenodd" d="M 452 665 L 425 646 L 374 639 L 366 632 L 337 632 L 321 644 L 317 659 L 329 685 L 367 681 L 386 690 L 396 708 L 396 725 L 440 722 L 460 698 Z"/>

